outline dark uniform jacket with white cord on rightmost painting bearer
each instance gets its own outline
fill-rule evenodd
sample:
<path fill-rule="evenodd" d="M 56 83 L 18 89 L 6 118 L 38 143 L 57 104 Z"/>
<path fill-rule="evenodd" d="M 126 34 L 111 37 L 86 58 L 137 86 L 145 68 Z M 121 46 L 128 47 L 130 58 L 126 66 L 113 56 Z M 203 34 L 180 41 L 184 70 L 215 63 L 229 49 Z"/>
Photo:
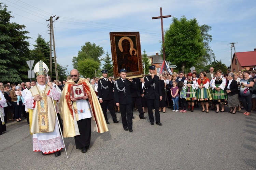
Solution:
<path fill-rule="evenodd" d="M 162 96 L 160 80 L 157 75 L 154 76 L 154 79 L 152 79 L 151 76 L 145 77 L 144 82 L 145 82 L 144 86 L 146 89 L 145 99 L 155 100 L 155 99 L 159 99 L 160 96 Z M 153 85 L 154 83 L 155 85 L 152 87 L 151 85 Z"/>

